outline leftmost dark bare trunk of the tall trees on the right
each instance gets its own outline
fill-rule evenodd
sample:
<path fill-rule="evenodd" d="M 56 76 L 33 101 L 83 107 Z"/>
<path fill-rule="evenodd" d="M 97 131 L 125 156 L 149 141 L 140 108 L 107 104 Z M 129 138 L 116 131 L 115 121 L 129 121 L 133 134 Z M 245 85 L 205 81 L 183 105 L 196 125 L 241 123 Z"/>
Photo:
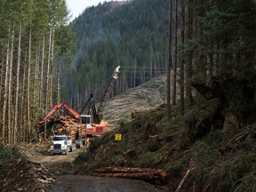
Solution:
<path fill-rule="evenodd" d="M 168 60 L 167 60 L 167 119 L 171 122 L 171 63 L 172 63 L 172 0 L 169 0 Z"/>

